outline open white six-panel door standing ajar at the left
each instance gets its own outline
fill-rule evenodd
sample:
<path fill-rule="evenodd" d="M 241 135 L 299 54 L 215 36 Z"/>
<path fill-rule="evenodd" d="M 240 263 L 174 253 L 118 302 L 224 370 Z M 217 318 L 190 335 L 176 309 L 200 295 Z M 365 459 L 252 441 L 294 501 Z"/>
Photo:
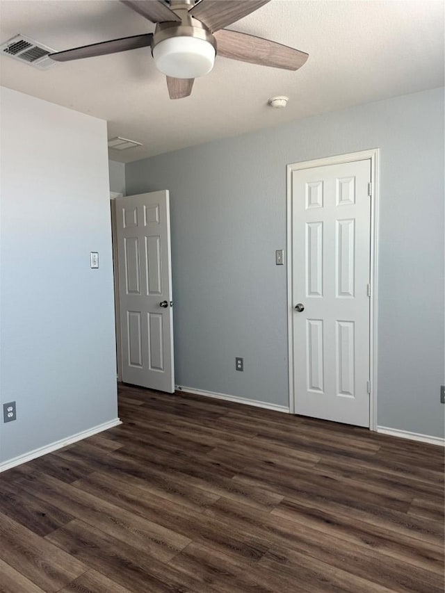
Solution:
<path fill-rule="evenodd" d="M 116 199 L 122 381 L 175 391 L 168 191 Z"/>

